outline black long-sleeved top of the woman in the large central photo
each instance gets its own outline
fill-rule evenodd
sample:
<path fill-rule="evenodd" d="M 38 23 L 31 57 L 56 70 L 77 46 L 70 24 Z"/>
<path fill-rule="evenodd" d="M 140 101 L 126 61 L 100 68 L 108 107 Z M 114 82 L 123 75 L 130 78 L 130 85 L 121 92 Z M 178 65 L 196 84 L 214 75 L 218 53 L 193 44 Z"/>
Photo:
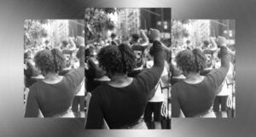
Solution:
<path fill-rule="evenodd" d="M 91 96 L 85 128 L 102 128 L 103 118 L 110 128 L 135 123 L 143 115 L 148 94 L 160 79 L 164 67 L 161 43 L 154 42 L 154 66 L 133 78 L 124 88 L 108 84 L 97 87 Z"/>

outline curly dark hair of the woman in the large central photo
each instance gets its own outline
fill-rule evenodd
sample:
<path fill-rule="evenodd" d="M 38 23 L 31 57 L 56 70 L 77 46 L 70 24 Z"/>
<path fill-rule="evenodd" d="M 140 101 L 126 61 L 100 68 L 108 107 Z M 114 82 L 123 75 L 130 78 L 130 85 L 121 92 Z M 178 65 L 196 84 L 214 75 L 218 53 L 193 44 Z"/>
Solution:
<path fill-rule="evenodd" d="M 118 47 L 109 45 L 102 48 L 98 54 L 99 66 L 105 71 L 126 73 L 135 67 L 136 55 L 133 50 L 124 43 Z"/>

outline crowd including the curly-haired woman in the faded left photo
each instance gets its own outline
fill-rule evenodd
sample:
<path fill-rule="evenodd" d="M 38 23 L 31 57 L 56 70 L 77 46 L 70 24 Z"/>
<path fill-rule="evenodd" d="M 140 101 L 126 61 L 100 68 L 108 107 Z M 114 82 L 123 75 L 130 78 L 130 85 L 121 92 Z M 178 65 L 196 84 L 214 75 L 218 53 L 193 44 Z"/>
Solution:
<path fill-rule="evenodd" d="M 84 37 L 24 53 L 25 117 L 84 117 Z"/>

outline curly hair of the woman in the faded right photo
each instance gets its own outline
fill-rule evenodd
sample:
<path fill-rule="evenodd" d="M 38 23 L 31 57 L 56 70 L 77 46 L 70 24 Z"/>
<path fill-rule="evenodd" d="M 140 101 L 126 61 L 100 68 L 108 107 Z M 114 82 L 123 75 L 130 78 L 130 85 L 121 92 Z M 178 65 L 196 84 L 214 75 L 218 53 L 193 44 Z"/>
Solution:
<path fill-rule="evenodd" d="M 180 51 L 176 56 L 177 66 L 182 71 L 199 72 L 206 68 L 207 58 L 200 49 L 185 49 Z"/>

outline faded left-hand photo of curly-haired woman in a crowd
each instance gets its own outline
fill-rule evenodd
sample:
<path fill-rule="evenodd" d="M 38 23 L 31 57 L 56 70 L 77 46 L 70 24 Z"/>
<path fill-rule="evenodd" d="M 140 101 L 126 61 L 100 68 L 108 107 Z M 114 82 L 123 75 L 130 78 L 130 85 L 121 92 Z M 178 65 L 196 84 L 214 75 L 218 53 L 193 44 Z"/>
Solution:
<path fill-rule="evenodd" d="M 84 20 L 25 20 L 24 117 L 84 117 Z"/>

